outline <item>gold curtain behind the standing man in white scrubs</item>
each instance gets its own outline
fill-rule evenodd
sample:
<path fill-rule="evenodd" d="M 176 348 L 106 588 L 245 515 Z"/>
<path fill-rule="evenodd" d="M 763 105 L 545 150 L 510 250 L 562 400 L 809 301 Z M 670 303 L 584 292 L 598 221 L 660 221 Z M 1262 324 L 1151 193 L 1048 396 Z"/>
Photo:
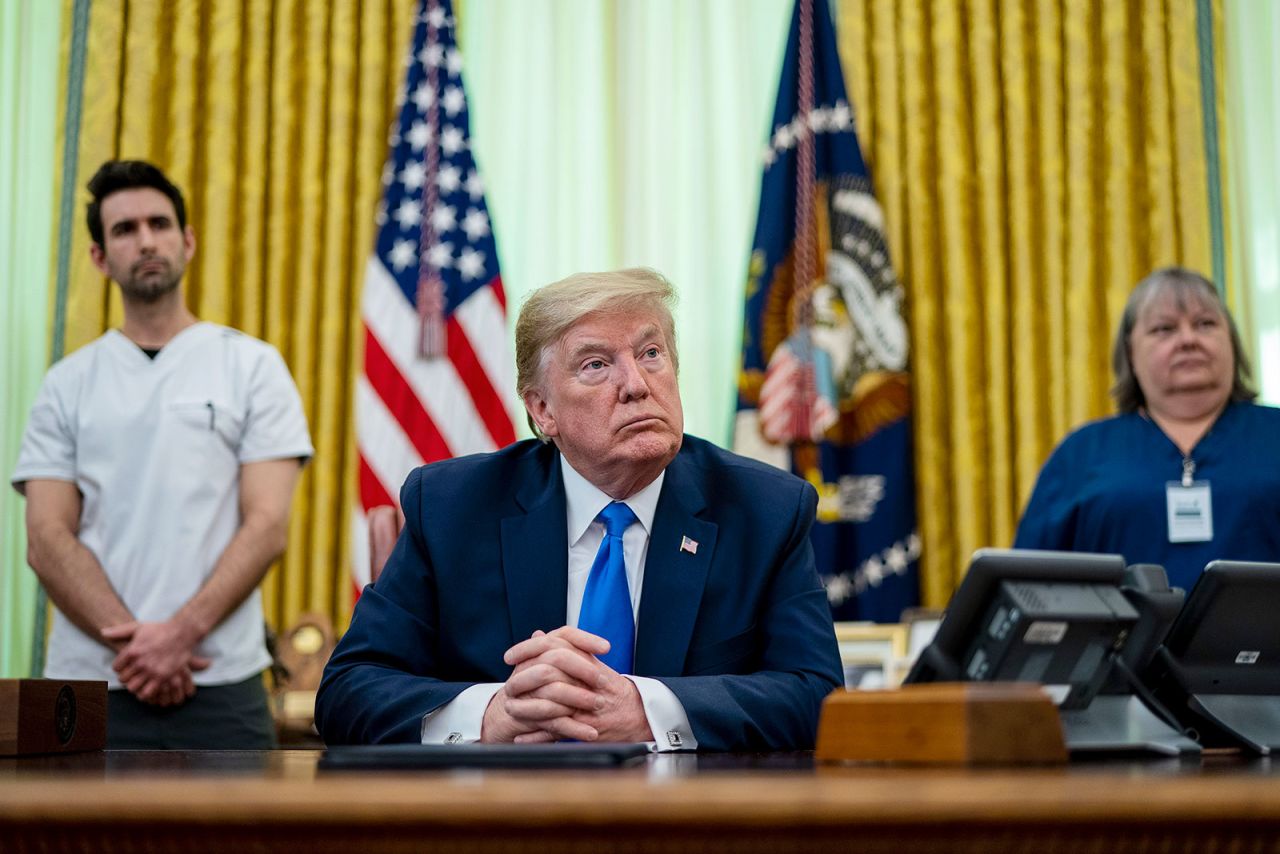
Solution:
<path fill-rule="evenodd" d="M 274 344 L 306 407 L 316 456 L 262 585 L 276 627 L 307 611 L 346 625 L 349 611 L 360 282 L 412 15 L 413 0 L 91 6 L 78 160 L 59 169 L 78 193 L 65 351 L 122 320 L 116 288 L 90 264 L 84 182 L 108 159 L 151 160 L 183 189 L 196 229 L 192 311 Z M 65 79 L 61 91 L 65 102 Z"/>

